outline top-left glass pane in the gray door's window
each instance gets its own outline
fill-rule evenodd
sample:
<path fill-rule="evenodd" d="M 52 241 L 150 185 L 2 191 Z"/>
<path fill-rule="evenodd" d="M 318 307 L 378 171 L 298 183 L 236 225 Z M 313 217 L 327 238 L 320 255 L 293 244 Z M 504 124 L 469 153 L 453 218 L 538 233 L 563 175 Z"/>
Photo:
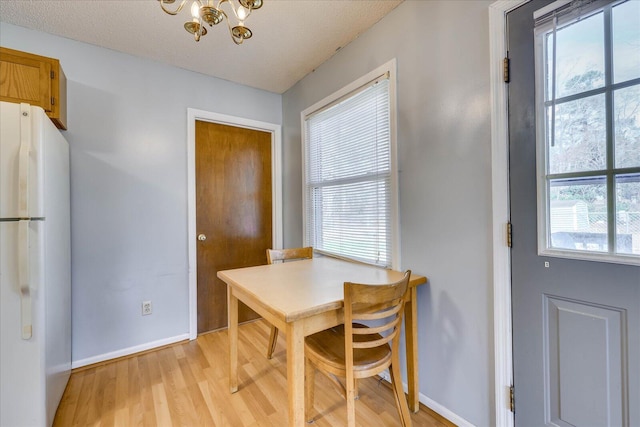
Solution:
<path fill-rule="evenodd" d="M 603 23 L 600 12 L 557 30 L 556 98 L 604 86 Z M 547 37 L 549 77 L 552 77 L 552 63 L 553 36 L 550 36 Z"/>

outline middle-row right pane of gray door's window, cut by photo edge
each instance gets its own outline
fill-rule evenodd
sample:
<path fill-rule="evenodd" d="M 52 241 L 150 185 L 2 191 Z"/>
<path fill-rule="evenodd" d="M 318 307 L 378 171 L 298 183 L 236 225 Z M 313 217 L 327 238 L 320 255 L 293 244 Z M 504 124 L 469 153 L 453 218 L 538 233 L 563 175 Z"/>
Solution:
<path fill-rule="evenodd" d="M 640 86 L 613 93 L 616 167 L 640 166 Z"/>

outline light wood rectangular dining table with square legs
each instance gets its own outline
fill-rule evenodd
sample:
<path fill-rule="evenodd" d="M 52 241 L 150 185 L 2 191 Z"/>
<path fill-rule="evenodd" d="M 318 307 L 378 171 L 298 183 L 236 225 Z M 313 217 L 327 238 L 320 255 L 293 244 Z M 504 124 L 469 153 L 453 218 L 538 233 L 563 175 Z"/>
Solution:
<path fill-rule="evenodd" d="M 306 425 L 304 411 L 304 339 L 343 323 L 344 282 L 384 284 L 403 273 L 331 257 L 237 268 L 218 272 L 227 284 L 229 315 L 229 387 L 238 390 L 238 301 L 286 333 L 289 425 Z M 417 289 L 425 276 L 412 274 L 405 306 L 408 403 L 419 409 Z"/>

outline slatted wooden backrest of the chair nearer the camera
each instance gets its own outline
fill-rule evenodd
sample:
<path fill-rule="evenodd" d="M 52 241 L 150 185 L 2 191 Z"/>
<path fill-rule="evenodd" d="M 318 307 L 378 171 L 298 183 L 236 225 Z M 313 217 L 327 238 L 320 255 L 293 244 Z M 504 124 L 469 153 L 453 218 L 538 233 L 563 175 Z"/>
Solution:
<path fill-rule="evenodd" d="M 387 285 L 345 282 L 344 323 L 347 360 L 353 357 L 354 348 L 380 347 L 392 340 L 393 347 L 396 347 L 393 350 L 397 351 L 410 277 L 411 270 L 407 270 L 401 280 Z M 354 328 L 353 322 L 358 321 L 376 322 L 368 328 Z M 377 334 L 381 334 L 382 338 Z"/>

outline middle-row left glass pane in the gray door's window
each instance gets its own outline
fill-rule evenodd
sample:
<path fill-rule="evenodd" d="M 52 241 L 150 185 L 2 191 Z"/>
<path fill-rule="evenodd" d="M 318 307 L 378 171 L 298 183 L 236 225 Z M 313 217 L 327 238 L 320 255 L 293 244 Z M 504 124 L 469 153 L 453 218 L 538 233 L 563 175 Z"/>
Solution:
<path fill-rule="evenodd" d="M 547 109 L 549 115 L 551 108 Z M 549 141 L 549 145 L 553 144 L 549 147 L 550 173 L 602 170 L 606 167 L 605 112 L 604 94 L 556 106 L 555 138 Z"/>

